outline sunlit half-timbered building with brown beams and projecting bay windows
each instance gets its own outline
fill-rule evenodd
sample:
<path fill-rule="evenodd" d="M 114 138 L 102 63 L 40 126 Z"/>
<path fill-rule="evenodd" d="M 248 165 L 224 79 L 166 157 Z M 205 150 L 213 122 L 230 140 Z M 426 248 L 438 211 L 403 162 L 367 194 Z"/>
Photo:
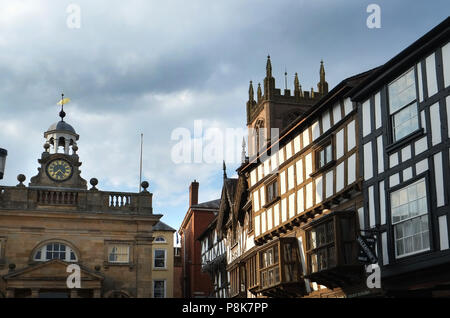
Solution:
<path fill-rule="evenodd" d="M 357 108 L 349 92 L 372 72 L 323 94 L 238 169 L 247 180 L 255 242 L 254 267 L 246 268 L 254 282 L 241 279 L 238 285 L 252 294 L 343 297 L 370 292 L 357 260 L 357 211 L 363 198 Z M 323 64 L 320 73 L 323 82 Z"/>

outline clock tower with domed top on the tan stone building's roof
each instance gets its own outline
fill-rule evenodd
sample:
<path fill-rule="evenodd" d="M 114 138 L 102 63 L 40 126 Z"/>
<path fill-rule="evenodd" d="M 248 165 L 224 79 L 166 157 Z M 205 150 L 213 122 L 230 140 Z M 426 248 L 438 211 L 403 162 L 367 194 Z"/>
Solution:
<path fill-rule="evenodd" d="M 31 178 L 30 187 L 57 187 L 87 189 L 86 180 L 81 178 L 81 162 L 77 155 L 79 135 L 64 121 L 63 106 L 59 113 L 61 120 L 51 125 L 44 133 L 46 142 L 38 168 L 38 174 Z"/>

